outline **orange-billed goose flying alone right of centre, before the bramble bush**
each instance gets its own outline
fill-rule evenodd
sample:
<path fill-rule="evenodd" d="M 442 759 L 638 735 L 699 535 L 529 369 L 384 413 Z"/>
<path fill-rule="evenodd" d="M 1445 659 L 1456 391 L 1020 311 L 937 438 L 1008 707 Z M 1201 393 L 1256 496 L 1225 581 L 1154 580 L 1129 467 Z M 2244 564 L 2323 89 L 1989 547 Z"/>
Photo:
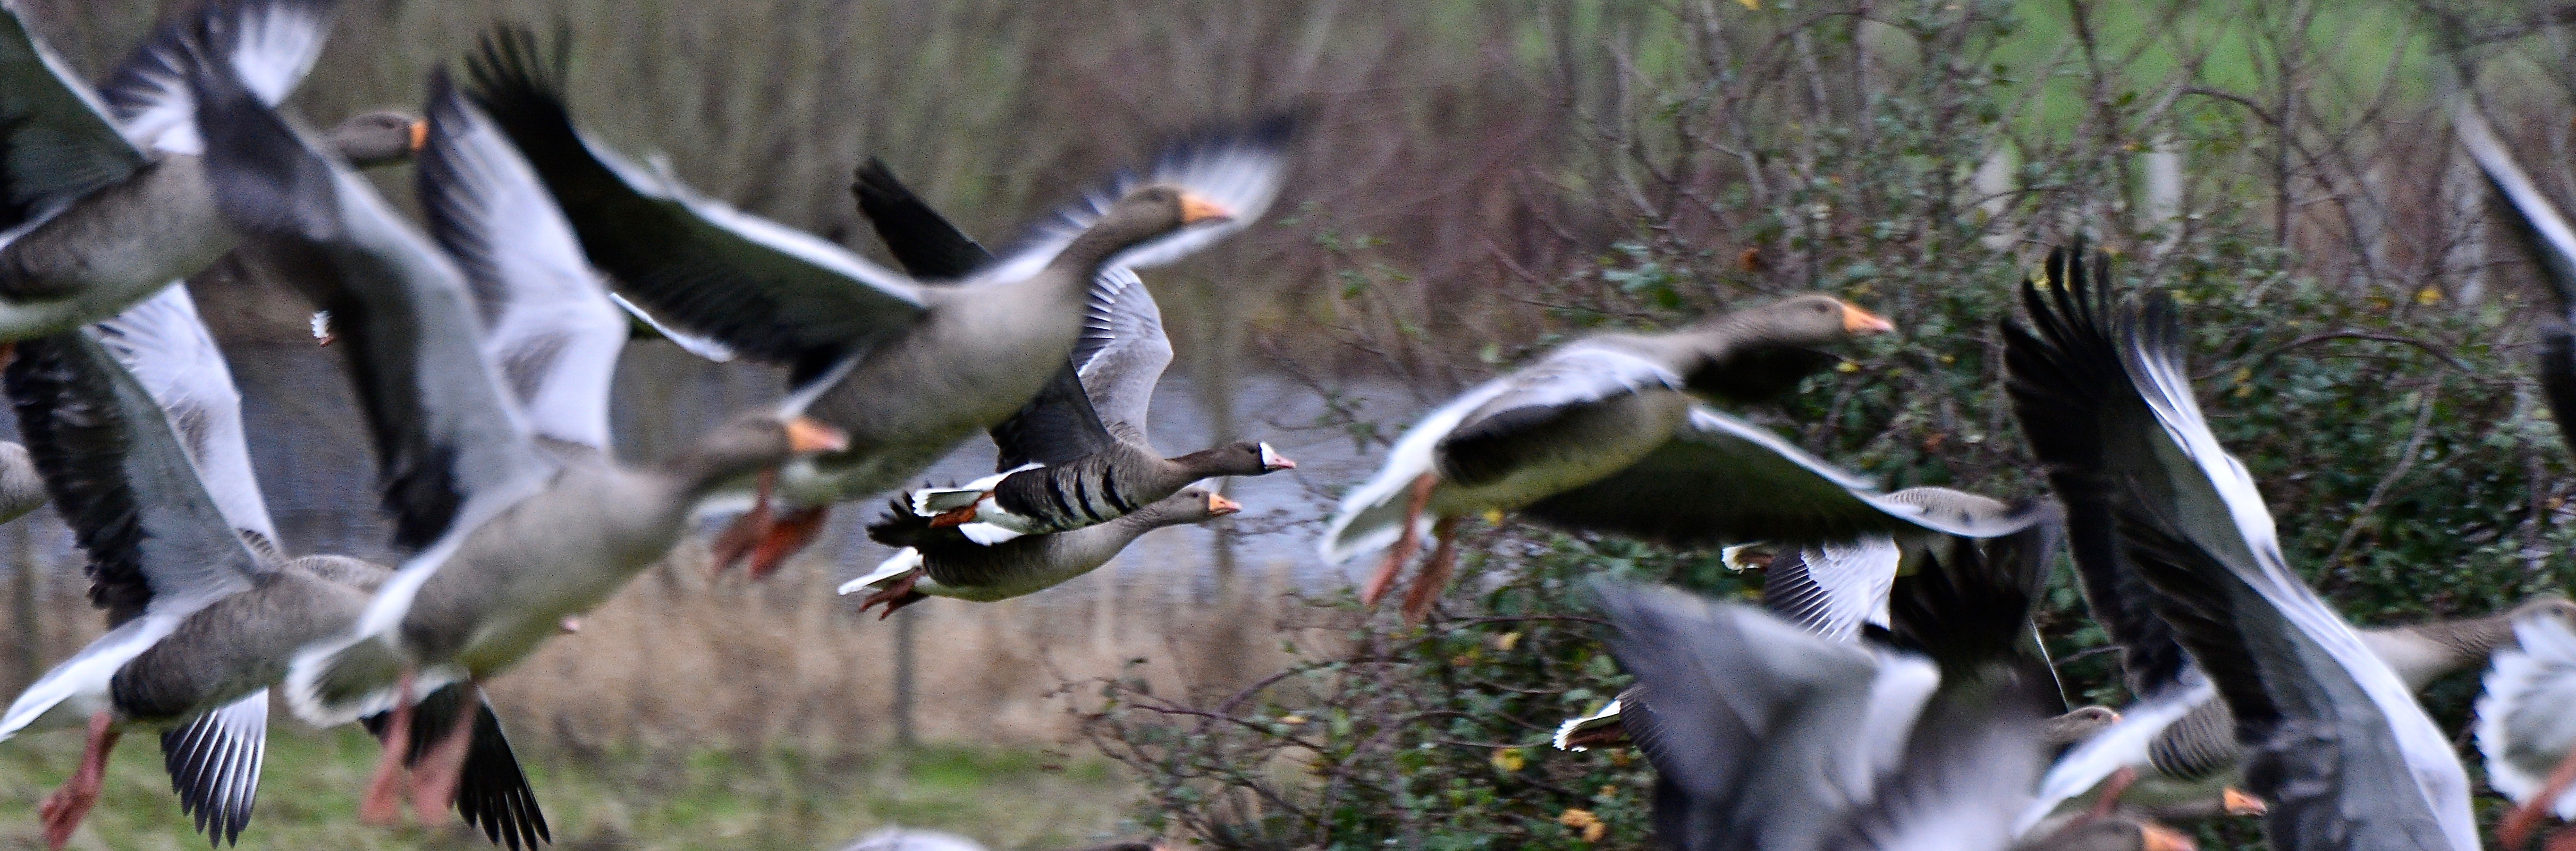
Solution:
<path fill-rule="evenodd" d="M 1566 345 L 1414 422 L 1378 476 L 1342 499 L 1324 527 L 1324 560 L 1386 548 L 1360 594 L 1376 604 L 1427 530 L 1437 542 L 1404 599 L 1406 617 L 1419 620 L 1448 584 L 1458 517 L 1484 512 L 1667 542 L 2017 530 L 1919 517 L 1922 506 L 1888 504 L 1860 478 L 1698 404 L 1777 396 L 1834 363 L 1806 347 L 1886 329 L 1886 319 L 1832 296 L 1798 296 L 1672 334 Z"/>

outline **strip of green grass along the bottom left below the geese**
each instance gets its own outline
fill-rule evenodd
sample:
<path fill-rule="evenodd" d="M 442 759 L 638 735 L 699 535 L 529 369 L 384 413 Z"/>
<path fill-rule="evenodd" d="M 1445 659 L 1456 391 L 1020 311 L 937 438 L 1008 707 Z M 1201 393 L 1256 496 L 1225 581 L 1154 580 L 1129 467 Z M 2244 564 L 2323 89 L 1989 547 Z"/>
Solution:
<path fill-rule="evenodd" d="M 634 748 L 528 753 L 556 848 L 840 848 L 884 825 L 938 828 L 994 848 L 1110 838 L 1131 787 L 1105 761 L 1028 748 L 927 746 L 881 756 Z M 0 848 L 39 848 L 36 802 L 70 776 L 77 733 L 0 746 Z M 368 828 L 358 792 L 376 743 L 355 728 L 278 728 L 242 848 L 489 848 L 453 818 Z M 129 735 L 72 848 L 204 848 L 178 812 L 152 735 Z"/>

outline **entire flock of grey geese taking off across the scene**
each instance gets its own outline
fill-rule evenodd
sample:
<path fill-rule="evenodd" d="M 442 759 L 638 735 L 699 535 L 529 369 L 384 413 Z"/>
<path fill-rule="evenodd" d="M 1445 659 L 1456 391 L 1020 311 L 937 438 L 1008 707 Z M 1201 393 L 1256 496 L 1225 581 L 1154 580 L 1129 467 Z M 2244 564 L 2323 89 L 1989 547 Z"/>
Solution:
<path fill-rule="evenodd" d="M 433 72 L 422 118 L 317 134 L 276 103 L 314 64 L 330 0 L 211 3 L 95 90 L 13 0 L 0 13 L 0 383 L 26 440 L 0 445 L 0 514 L 54 504 L 111 625 L 0 715 L 0 738 L 88 728 L 39 810 L 54 848 L 129 730 L 160 733 L 196 828 L 237 841 L 270 692 L 384 743 L 361 818 L 453 807 L 536 846 L 544 812 L 479 684 L 577 630 L 711 506 L 747 506 L 711 542 L 719 568 L 768 576 L 832 504 L 992 434 L 994 476 L 902 491 L 868 527 L 899 553 L 840 591 L 894 612 L 1064 584 L 1149 530 L 1242 509 L 1200 481 L 1296 468 L 1262 442 L 1154 450 L 1172 347 L 1133 273 L 1270 206 L 1283 118 L 1175 144 L 1005 252 L 868 162 L 853 193 L 886 270 L 590 141 L 562 98 L 564 44 L 523 28 L 487 33 L 459 80 Z M 2576 303 L 2576 229 L 2473 111 L 2458 126 Z M 417 226 L 358 175 L 394 162 L 415 165 Z M 178 285 L 227 252 L 319 309 L 399 566 L 281 548 L 240 391 Z M 2504 846 L 2576 818 L 2576 604 L 2352 627 L 2287 566 L 2202 422 L 2172 301 L 2112 293 L 2081 244 L 2014 285 L 2009 401 L 2053 499 L 1880 491 L 1721 411 L 1893 329 L 1795 296 L 1584 337 L 1466 391 L 1347 494 L 1324 558 L 1378 550 L 1360 596 L 1406 586 L 1414 622 L 1468 517 L 1723 545 L 1765 571 L 1759 607 L 1597 589 L 1636 684 L 1558 746 L 1641 748 L 1674 848 L 2174 851 L 2190 838 L 2166 823 L 2257 812 L 2275 848 L 2476 848 L 2468 774 L 2414 699 L 2476 666 L 2488 784 L 2519 802 Z M 786 365 L 788 388 L 667 460 L 621 463 L 608 383 L 636 329 Z M 2576 422 L 2576 334 L 2553 321 L 2543 339 L 2548 401 Z M 2061 545 L 2128 707 L 2069 710 L 2038 643 Z"/>

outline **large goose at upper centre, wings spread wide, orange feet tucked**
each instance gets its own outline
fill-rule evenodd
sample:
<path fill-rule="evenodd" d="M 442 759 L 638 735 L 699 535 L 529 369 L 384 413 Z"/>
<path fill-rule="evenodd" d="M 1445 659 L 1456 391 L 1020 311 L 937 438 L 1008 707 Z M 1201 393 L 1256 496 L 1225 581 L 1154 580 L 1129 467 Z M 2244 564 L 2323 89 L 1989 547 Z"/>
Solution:
<path fill-rule="evenodd" d="M 590 262 L 665 324 L 791 363 L 796 381 L 850 365 L 814 404 L 850 447 L 762 481 L 721 537 L 719 558 L 747 553 L 752 576 L 804 548 L 829 504 L 899 488 L 1020 411 L 1079 342 L 1100 270 L 1172 262 L 1249 226 L 1285 170 L 1285 123 L 1193 144 L 1066 208 L 974 278 L 922 285 L 587 144 L 562 103 L 559 62 L 541 59 L 531 33 L 502 31 L 471 64 L 474 100 L 528 154 Z"/>

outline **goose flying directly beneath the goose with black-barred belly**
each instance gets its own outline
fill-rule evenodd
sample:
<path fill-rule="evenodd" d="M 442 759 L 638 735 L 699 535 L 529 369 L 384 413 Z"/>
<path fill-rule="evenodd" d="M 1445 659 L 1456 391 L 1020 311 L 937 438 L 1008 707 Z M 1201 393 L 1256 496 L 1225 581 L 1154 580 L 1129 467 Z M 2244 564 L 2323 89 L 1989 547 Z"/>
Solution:
<path fill-rule="evenodd" d="M 922 596 L 994 602 L 1046 591 L 1110 563 L 1144 532 L 1218 519 L 1244 506 L 1216 491 L 1180 488 L 1180 494 L 1103 524 L 1023 535 L 994 545 L 974 542 L 958 527 L 933 527 L 930 517 L 904 512 L 902 499 L 891 509 L 886 519 L 868 527 L 868 537 L 902 550 L 868 576 L 840 586 L 840 594 L 855 594 L 886 584 L 860 604 L 860 612 L 886 604 L 886 614 L 894 614 Z"/>

